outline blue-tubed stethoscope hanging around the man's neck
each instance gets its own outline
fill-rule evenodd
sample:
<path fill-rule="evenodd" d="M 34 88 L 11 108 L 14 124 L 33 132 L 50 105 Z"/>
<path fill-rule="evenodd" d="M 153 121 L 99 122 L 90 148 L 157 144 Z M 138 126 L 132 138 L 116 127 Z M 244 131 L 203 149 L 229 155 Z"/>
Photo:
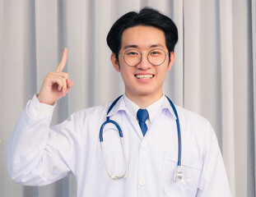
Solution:
<path fill-rule="evenodd" d="M 119 98 L 121 98 L 121 97 L 122 97 L 122 95 L 119 96 Z M 181 135 L 180 135 L 179 117 L 178 117 L 178 113 L 177 113 L 177 110 L 175 108 L 174 103 L 171 102 L 170 98 L 168 98 L 167 96 L 165 96 L 165 97 L 168 99 L 168 101 L 170 103 L 170 106 L 173 109 L 173 111 L 175 112 L 175 116 L 176 116 L 176 125 L 177 125 L 177 132 L 178 132 L 178 148 L 179 148 L 179 150 L 178 150 L 178 163 L 177 163 L 177 169 L 176 169 L 175 176 L 174 176 L 174 181 L 180 181 L 180 180 L 182 180 L 183 172 L 180 169 L 180 166 L 181 166 Z M 101 148 L 102 148 L 103 157 L 104 157 L 104 161 L 105 161 L 105 168 L 106 168 L 106 171 L 107 171 L 109 177 L 112 178 L 113 180 L 119 180 L 119 179 L 127 177 L 127 172 L 128 172 L 128 159 L 127 159 L 127 154 L 126 154 L 126 151 L 125 151 L 125 148 L 124 148 L 123 132 L 122 132 L 119 124 L 116 121 L 110 120 L 109 117 L 108 117 L 109 112 L 114 107 L 114 105 L 119 101 L 119 98 L 116 98 L 114 100 L 114 102 L 110 105 L 109 110 L 108 110 L 107 115 L 106 115 L 107 120 L 102 124 L 102 126 L 100 126 L 100 143 L 101 143 Z M 105 125 L 108 124 L 108 123 L 114 124 L 114 126 L 116 126 L 116 128 L 118 129 L 120 140 L 121 140 L 121 143 L 122 143 L 122 146 L 123 146 L 123 154 L 124 154 L 126 167 L 125 167 L 125 172 L 120 176 L 111 175 L 110 172 L 109 172 L 108 163 L 106 162 L 105 146 L 104 146 L 104 143 L 103 143 L 102 134 L 103 134 L 103 130 L 104 130 Z"/>

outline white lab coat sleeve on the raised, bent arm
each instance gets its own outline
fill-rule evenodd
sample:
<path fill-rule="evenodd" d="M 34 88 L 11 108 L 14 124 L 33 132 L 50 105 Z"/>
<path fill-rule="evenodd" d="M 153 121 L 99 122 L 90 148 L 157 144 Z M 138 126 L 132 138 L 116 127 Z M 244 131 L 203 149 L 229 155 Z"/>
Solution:
<path fill-rule="evenodd" d="M 75 117 L 49 128 L 54 106 L 27 103 L 7 145 L 7 167 L 13 181 L 26 186 L 43 186 L 72 172 Z"/>

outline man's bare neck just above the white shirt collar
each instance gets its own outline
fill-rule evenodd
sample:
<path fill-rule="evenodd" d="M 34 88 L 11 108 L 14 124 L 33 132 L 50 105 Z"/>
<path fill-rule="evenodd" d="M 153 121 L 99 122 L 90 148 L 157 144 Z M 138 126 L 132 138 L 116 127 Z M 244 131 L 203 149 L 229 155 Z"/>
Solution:
<path fill-rule="evenodd" d="M 133 103 L 137 104 L 138 107 L 147 108 L 152 103 L 155 103 L 157 100 L 159 100 L 163 96 L 163 93 L 158 95 L 139 95 L 139 96 L 133 96 L 132 94 L 125 93 L 125 95 L 131 101 L 133 101 Z"/>

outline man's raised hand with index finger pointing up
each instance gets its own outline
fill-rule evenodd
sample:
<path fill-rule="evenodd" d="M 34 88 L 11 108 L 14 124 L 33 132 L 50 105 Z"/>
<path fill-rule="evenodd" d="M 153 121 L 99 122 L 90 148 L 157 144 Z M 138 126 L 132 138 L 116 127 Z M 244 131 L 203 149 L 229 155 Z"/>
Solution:
<path fill-rule="evenodd" d="M 63 72 L 67 62 L 67 48 L 64 48 L 63 57 L 58 63 L 55 71 L 49 72 L 45 77 L 37 98 L 40 103 L 53 104 L 59 98 L 65 96 L 72 88 L 72 80 L 68 79 L 68 74 Z"/>

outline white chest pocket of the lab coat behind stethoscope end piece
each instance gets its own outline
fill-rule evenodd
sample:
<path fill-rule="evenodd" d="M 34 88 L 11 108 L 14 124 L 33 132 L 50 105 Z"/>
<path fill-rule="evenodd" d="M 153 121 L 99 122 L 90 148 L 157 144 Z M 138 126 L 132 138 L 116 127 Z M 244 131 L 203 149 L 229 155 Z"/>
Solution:
<path fill-rule="evenodd" d="M 162 166 L 162 176 L 165 196 L 195 196 L 202 164 L 193 158 L 183 159 L 180 167 L 183 172 L 182 180 L 175 181 L 177 170 L 177 156 L 165 153 Z M 176 159 L 175 159 L 176 158 Z"/>

